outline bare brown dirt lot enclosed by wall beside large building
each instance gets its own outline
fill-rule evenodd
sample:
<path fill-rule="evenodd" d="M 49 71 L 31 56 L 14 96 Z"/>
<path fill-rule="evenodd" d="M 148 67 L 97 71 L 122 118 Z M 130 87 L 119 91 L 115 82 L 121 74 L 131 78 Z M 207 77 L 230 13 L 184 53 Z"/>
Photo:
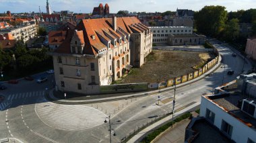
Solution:
<path fill-rule="evenodd" d="M 214 53 L 207 52 L 152 50 L 146 64 L 141 68 L 132 68 L 130 73 L 117 83 L 156 83 L 160 78 L 164 81 L 187 75 L 214 57 Z"/>

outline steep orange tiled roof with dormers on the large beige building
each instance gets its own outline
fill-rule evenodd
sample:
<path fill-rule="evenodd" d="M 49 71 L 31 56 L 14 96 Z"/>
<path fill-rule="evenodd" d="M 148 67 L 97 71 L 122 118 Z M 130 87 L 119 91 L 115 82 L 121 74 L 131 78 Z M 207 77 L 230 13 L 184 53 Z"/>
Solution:
<path fill-rule="evenodd" d="M 117 30 L 121 31 L 122 34 L 125 35 L 132 34 L 133 32 L 143 32 L 146 30 L 145 27 L 146 26 L 143 26 L 136 17 L 117 18 Z M 78 30 L 76 34 L 79 40 L 82 43 L 85 43 L 84 54 L 96 55 L 98 50 L 106 48 L 106 45 L 102 43 L 102 39 L 100 38 L 104 38 L 106 41 L 109 41 L 110 38 L 121 38 L 121 35 L 118 32 L 115 32 L 112 28 L 112 18 L 83 19 L 77 25 L 76 29 Z M 133 29 L 133 31 L 131 29 Z M 67 35 L 65 42 L 59 46 L 56 52 L 70 53 L 70 40 L 72 36 L 70 36 L 70 34 Z M 119 43 L 117 43 L 117 46 L 118 45 Z M 113 48 L 114 46 L 110 44 L 110 48 L 111 47 Z"/>

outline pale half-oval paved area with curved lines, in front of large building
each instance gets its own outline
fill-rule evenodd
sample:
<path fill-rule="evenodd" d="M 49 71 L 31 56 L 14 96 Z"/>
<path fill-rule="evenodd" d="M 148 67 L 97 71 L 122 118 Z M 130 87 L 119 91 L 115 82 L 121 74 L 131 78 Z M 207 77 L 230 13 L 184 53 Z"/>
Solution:
<path fill-rule="evenodd" d="M 35 111 L 44 124 L 59 130 L 85 130 L 104 124 L 106 115 L 86 105 L 36 103 Z"/>

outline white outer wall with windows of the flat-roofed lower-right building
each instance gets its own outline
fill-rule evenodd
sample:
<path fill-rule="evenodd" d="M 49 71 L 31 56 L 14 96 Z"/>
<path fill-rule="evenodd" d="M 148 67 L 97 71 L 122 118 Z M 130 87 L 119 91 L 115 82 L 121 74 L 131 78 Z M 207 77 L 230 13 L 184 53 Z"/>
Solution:
<path fill-rule="evenodd" d="M 214 126 L 221 130 L 222 120 L 233 126 L 231 139 L 235 142 L 247 142 L 248 138 L 256 142 L 256 130 L 249 128 L 223 109 L 201 97 L 200 116 L 205 117 L 206 108 L 215 113 Z"/>

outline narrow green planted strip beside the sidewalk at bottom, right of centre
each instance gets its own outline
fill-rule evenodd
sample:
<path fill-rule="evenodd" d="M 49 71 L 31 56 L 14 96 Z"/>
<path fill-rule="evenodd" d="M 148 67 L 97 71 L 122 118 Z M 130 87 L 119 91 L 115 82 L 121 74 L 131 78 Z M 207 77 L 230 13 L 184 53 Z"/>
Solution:
<path fill-rule="evenodd" d="M 165 124 L 164 126 L 154 130 L 154 132 L 148 134 L 148 136 L 146 136 L 145 138 L 143 138 L 140 142 L 141 143 L 148 143 L 151 142 L 152 140 L 154 140 L 154 138 L 156 138 L 156 136 L 158 136 L 159 134 L 161 134 L 162 132 L 164 132 L 165 130 L 167 130 L 170 126 L 172 126 L 172 124 L 175 124 L 177 122 L 181 122 L 182 120 L 187 119 L 188 117 L 191 117 L 191 113 L 185 113 L 183 115 L 181 115 L 181 117 L 177 117 L 174 122 L 168 122 L 167 124 Z"/>

